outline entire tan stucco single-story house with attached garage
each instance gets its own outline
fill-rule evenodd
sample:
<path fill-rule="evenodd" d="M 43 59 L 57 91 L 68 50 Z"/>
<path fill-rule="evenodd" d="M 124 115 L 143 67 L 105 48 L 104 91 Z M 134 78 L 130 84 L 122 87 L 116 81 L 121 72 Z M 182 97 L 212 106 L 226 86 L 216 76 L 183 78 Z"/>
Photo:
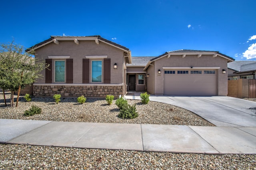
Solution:
<path fill-rule="evenodd" d="M 51 36 L 31 48 L 50 65 L 33 84 L 34 96 L 117 97 L 132 90 L 226 96 L 227 63 L 234 61 L 217 51 L 200 50 L 131 57 L 128 48 L 100 36 Z"/>

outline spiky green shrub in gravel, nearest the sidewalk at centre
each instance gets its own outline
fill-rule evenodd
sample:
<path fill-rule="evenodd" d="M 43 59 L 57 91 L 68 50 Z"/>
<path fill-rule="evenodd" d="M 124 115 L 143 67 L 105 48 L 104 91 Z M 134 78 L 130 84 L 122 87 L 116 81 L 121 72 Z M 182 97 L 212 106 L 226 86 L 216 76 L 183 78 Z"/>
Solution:
<path fill-rule="evenodd" d="M 134 105 L 124 105 L 124 107 L 120 110 L 118 117 L 123 119 L 133 119 L 138 117 L 138 112 L 136 112 L 136 104 Z"/>

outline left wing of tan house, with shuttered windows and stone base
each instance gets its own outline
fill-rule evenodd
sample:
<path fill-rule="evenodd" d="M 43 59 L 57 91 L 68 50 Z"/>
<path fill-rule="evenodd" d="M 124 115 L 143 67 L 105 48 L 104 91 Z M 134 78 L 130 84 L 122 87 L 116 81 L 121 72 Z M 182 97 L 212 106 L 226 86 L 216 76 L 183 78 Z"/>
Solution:
<path fill-rule="evenodd" d="M 100 36 L 51 36 L 29 48 L 49 69 L 33 84 L 34 96 L 124 95 L 128 48 Z"/>

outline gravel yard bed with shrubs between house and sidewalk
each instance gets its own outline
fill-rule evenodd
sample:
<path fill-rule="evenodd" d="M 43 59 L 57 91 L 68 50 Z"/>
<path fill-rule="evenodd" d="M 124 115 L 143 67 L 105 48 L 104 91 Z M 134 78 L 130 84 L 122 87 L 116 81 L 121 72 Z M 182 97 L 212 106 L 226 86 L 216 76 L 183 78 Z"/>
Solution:
<path fill-rule="evenodd" d="M 6 96 L 10 98 L 9 94 Z M 119 109 L 114 104 L 115 100 L 109 106 L 104 99 L 88 98 L 86 103 L 79 104 L 76 98 L 61 98 L 60 103 L 55 104 L 53 98 L 32 98 L 31 102 L 26 102 L 20 97 L 17 108 L 4 107 L 2 95 L 0 101 L 0 118 L 6 119 L 214 126 L 186 109 L 152 101 L 142 104 L 140 100 L 128 100 L 129 104 L 136 104 L 139 116 L 135 119 L 118 118 Z M 23 116 L 32 105 L 42 108 L 42 114 Z"/>

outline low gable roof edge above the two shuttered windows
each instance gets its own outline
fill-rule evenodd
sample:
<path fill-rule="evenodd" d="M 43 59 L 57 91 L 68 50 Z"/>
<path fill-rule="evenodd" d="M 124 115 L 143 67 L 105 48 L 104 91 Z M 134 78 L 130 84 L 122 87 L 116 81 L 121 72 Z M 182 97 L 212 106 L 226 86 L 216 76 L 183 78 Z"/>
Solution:
<path fill-rule="evenodd" d="M 95 40 L 95 42 L 98 44 L 100 42 L 104 42 L 106 44 L 109 44 L 110 46 L 114 46 L 120 50 L 124 51 L 124 55 L 126 56 L 126 63 L 131 63 L 131 51 L 129 48 L 126 48 L 125 46 L 121 46 L 120 44 L 116 44 L 115 42 L 109 41 L 105 38 L 102 38 L 99 35 L 95 36 L 51 36 L 51 38 L 44 40 L 43 42 L 40 42 L 38 44 L 35 44 L 34 46 L 26 49 L 26 52 L 30 52 L 32 49 L 36 50 L 42 46 L 45 46 L 46 44 L 49 44 L 51 42 L 58 42 L 62 40 L 72 40 L 72 41 L 79 41 L 79 40 Z"/>

